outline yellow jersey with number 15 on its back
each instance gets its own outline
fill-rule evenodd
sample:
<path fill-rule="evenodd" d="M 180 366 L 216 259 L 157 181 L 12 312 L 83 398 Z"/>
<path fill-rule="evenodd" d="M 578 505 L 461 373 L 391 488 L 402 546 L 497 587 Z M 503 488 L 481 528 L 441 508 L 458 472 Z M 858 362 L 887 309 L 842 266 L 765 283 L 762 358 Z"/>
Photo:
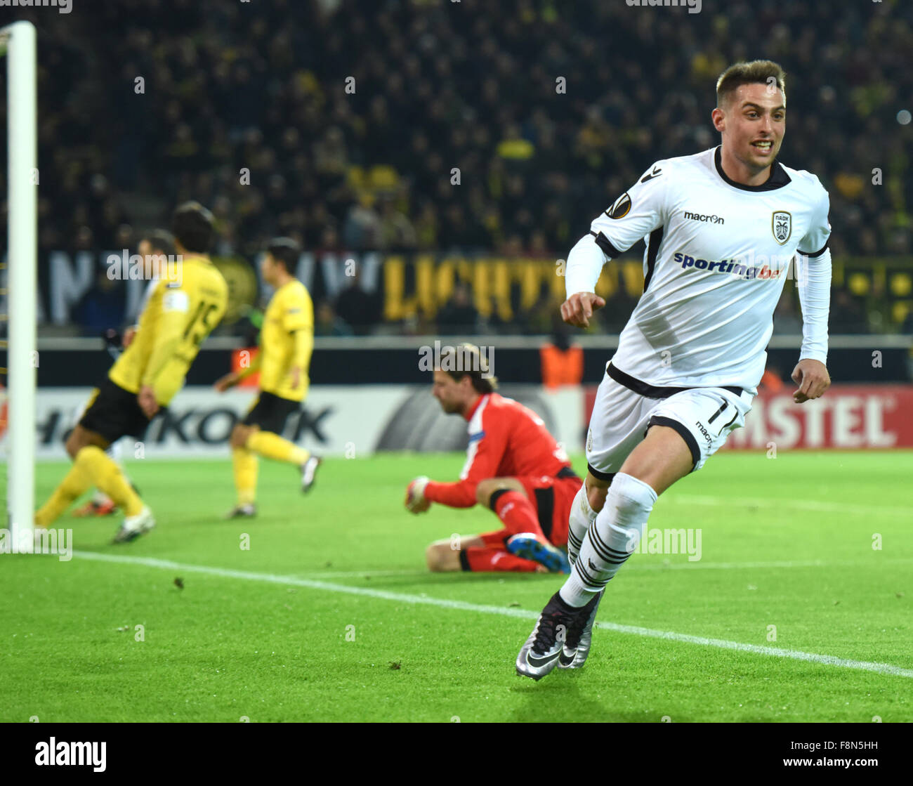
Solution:
<path fill-rule="evenodd" d="M 131 393 L 152 385 L 156 401 L 169 403 L 227 303 L 228 286 L 218 268 L 205 257 L 184 255 L 175 275 L 152 290 L 136 337 L 108 372 L 111 382 Z"/>

